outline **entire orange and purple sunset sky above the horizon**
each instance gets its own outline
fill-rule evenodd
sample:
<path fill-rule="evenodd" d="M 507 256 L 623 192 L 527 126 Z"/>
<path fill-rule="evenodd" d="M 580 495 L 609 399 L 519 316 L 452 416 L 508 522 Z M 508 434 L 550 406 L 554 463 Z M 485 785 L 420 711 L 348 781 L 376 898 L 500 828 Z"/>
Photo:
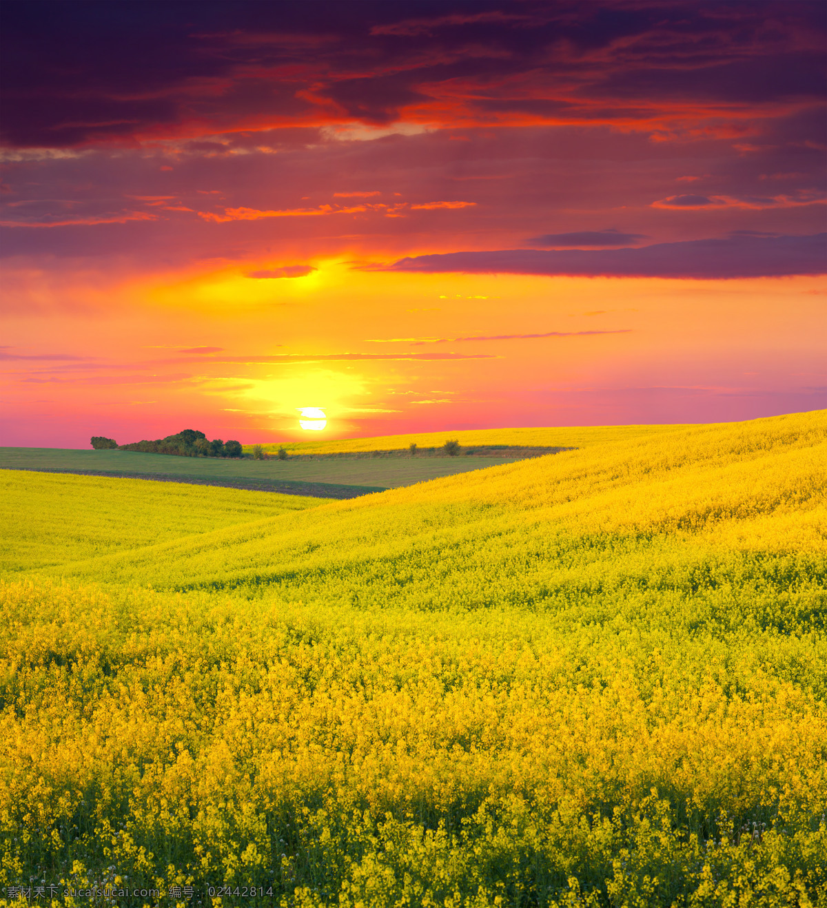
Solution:
<path fill-rule="evenodd" d="M 2 445 L 827 407 L 822 0 L 3 16 Z"/>

